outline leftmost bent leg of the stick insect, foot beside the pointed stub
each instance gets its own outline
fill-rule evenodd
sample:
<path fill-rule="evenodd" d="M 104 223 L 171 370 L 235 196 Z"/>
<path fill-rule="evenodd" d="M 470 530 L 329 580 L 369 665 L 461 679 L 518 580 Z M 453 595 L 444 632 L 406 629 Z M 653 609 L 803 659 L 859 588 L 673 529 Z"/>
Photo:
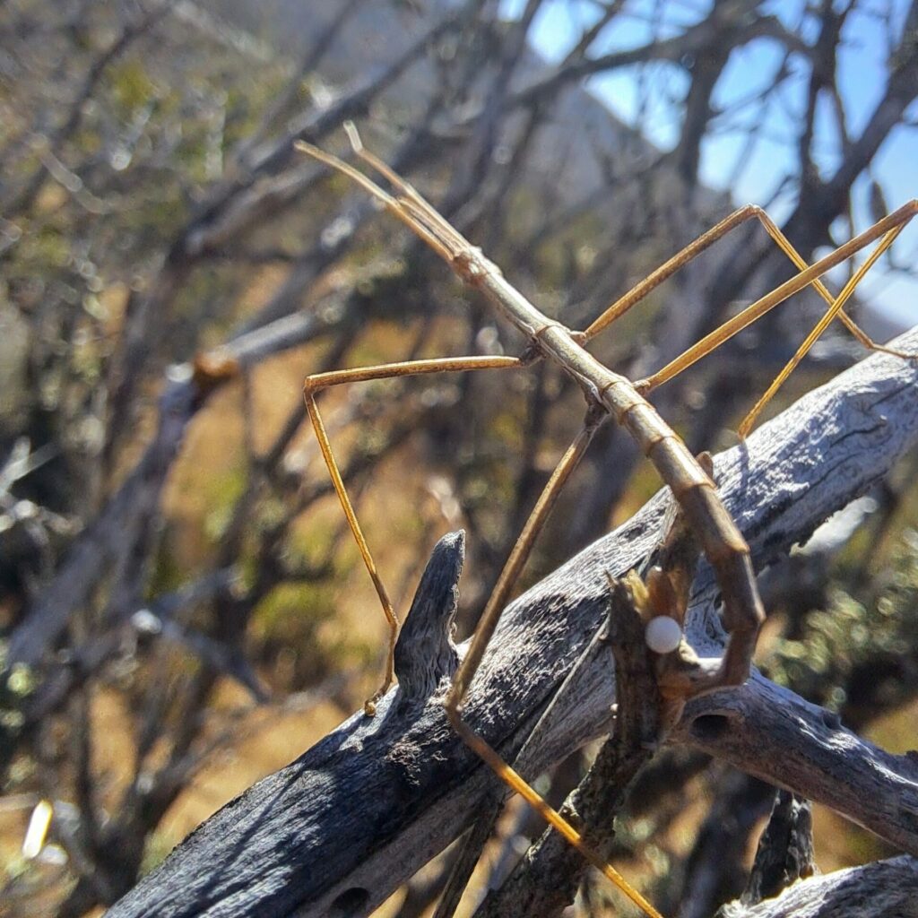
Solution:
<path fill-rule="evenodd" d="M 316 431 L 316 439 L 319 441 L 319 450 L 325 465 L 328 467 L 331 477 L 331 484 L 341 501 L 341 508 L 347 517 L 348 525 L 351 527 L 354 541 L 360 550 L 361 557 L 364 559 L 364 565 L 373 580 L 373 586 L 376 595 L 383 607 L 383 614 L 386 616 L 386 625 L 388 627 L 388 648 L 386 653 L 386 674 L 383 678 L 383 684 L 375 692 L 373 698 L 364 703 L 364 711 L 372 716 L 376 711 L 376 702 L 386 694 L 389 686 L 392 685 L 392 679 L 395 675 L 395 646 L 398 634 L 398 619 L 395 610 L 392 608 L 392 601 L 389 599 L 386 586 L 376 569 L 373 555 L 366 543 L 364 532 L 361 529 L 360 522 L 357 520 L 357 514 L 353 509 L 353 503 L 348 496 L 347 489 L 344 487 L 344 481 L 341 478 L 338 464 L 335 461 L 334 454 L 331 452 L 331 443 L 328 432 L 325 430 L 325 424 L 322 422 L 322 416 L 319 414 L 319 405 L 316 402 L 316 396 L 322 389 L 330 386 L 342 386 L 346 383 L 369 382 L 373 379 L 391 379 L 397 376 L 422 375 L 430 373 L 455 373 L 465 370 L 496 370 L 509 369 L 522 365 L 518 357 L 443 357 L 433 360 L 413 360 L 404 361 L 397 364 L 380 364 L 377 366 L 364 366 L 353 370 L 335 370 L 330 373 L 318 373 L 308 376 L 303 384 L 303 397 L 306 400 L 306 409 L 309 413 L 309 420 L 312 421 L 313 430 Z"/>

